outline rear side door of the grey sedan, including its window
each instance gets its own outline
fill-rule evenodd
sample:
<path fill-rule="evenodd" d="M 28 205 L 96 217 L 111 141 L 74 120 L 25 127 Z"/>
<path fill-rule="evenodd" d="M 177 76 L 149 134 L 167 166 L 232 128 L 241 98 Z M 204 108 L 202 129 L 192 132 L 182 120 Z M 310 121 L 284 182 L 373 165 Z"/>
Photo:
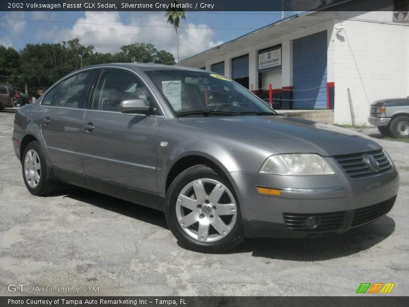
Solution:
<path fill-rule="evenodd" d="M 52 102 L 48 102 L 49 99 L 44 101 L 47 96 L 42 101 L 42 104 L 50 103 L 43 115 L 41 129 L 52 166 L 57 171 L 84 173 L 81 157 L 82 120 L 97 73 L 98 70 L 90 70 L 65 79 L 53 89 L 53 95 L 56 96 Z"/>

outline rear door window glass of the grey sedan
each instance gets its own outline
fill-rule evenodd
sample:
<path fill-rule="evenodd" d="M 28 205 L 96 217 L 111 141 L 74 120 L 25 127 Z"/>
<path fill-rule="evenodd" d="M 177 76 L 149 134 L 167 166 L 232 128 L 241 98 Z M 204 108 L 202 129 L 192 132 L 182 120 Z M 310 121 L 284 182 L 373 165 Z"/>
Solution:
<path fill-rule="evenodd" d="M 79 73 L 66 79 L 57 94 L 54 106 L 85 108 L 97 71 Z"/>

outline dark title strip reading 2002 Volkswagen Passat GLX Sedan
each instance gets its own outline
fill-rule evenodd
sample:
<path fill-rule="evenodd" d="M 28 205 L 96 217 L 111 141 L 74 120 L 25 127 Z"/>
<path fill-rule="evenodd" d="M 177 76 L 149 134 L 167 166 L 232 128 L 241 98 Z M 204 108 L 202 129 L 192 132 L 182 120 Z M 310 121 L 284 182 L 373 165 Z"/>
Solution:
<path fill-rule="evenodd" d="M 409 0 L 2 0 L 0 11 L 401 11 Z"/>

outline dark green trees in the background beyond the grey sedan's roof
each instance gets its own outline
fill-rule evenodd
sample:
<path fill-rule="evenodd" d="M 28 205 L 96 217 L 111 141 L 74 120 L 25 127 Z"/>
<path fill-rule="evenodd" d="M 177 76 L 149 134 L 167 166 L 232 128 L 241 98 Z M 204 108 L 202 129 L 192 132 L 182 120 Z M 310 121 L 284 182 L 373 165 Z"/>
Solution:
<path fill-rule="evenodd" d="M 9 82 L 19 91 L 25 84 L 32 95 L 46 89 L 58 79 L 95 64 L 139 62 L 175 63 L 173 55 L 157 50 L 151 43 L 132 43 L 116 54 L 97 52 L 94 46 L 83 46 L 78 38 L 58 43 L 28 43 L 20 52 L 0 45 L 0 82 Z"/>

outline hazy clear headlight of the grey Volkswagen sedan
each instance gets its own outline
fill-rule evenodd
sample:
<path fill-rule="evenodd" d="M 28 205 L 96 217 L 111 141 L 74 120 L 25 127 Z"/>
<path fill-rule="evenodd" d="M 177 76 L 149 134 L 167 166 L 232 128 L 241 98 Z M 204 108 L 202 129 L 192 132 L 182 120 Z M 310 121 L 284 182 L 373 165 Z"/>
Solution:
<path fill-rule="evenodd" d="M 261 173 L 312 176 L 333 174 L 334 171 L 319 155 L 291 154 L 268 157 L 260 169 Z"/>

